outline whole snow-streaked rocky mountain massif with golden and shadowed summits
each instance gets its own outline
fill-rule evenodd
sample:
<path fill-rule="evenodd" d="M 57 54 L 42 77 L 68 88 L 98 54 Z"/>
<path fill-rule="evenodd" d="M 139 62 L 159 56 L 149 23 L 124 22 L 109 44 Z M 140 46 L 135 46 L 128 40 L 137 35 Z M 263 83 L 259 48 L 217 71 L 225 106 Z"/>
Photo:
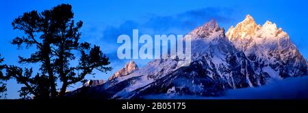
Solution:
<path fill-rule="evenodd" d="M 251 16 L 227 34 L 212 20 L 189 33 L 192 63 L 158 59 L 129 75 L 100 86 L 78 89 L 78 95 L 99 99 L 135 99 L 149 95 L 199 95 L 214 97 L 232 88 L 257 87 L 272 79 L 307 75 L 307 61 L 289 36 L 266 22 L 257 25 Z M 184 38 L 185 39 L 185 38 Z"/>

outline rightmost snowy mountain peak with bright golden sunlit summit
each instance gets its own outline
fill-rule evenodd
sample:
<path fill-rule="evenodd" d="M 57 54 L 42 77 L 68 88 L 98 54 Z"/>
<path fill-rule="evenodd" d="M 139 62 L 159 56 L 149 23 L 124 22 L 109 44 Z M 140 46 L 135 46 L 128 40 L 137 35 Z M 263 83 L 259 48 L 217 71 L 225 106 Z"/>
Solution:
<path fill-rule="evenodd" d="M 275 23 L 266 21 L 262 26 L 257 25 L 253 17 L 247 15 L 226 35 L 238 50 L 244 51 L 256 73 L 268 73 L 277 79 L 307 74 L 307 61 L 290 36 Z"/>

